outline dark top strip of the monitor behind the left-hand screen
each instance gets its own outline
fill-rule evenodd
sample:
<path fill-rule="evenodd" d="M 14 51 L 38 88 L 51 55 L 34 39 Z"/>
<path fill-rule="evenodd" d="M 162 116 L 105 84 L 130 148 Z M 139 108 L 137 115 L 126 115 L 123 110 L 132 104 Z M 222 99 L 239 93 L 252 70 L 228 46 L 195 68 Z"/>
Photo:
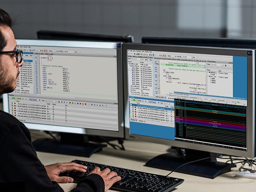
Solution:
<path fill-rule="evenodd" d="M 101 41 L 101 42 L 134 42 L 131 35 L 105 35 L 105 34 L 89 34 L 76 32 L 48 31 L 39 30 L 38 39 L 45 40 L 76 40 L 76 41 Z"/>

